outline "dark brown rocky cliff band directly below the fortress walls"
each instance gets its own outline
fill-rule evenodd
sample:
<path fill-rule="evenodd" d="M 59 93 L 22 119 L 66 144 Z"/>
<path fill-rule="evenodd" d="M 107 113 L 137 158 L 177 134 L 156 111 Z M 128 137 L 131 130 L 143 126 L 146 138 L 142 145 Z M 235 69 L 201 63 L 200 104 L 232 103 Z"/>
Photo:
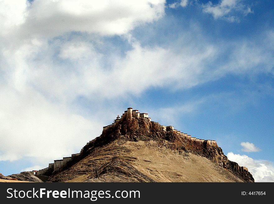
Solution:
<path fill-rule="evenodd" d="M 212 162 L 217 163 L 224 169 L 230 170 L 238 178 L 245 182 L 254 182 L 253 176 L 246 167 L 239 166 L 236 162 L 228 160 L 222 149 L 217 145 L 208 144 L 206 141 L 199 142 L 192 140 L 187 136 L 177 134 L 172 129 L 150 122 L 148 118 L 132 118 L 117 125 L 115 128 L 108 129 L 103 132 L 102 141 L 109 139 L 124 137 L 129 141 L 169 141 L 169 148 L 191 152 L 192 154 L 200 155 L 208 158 Z"/>

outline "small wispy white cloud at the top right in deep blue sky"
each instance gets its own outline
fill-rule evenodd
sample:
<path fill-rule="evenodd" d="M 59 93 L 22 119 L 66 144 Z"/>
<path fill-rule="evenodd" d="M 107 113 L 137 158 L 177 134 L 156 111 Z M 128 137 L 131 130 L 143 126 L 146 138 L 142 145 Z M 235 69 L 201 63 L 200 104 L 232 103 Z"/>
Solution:
<path fill-rule="evenodd" d="M 203 12 L 212 14 L 215 19 L 224 18 L 230 22 L 238 21 L 238 15 L 252 13 L 250 7 L 241 3 L 241 0 L 220 0 L 218 4 L 211 1 L 203 5 Z"/>

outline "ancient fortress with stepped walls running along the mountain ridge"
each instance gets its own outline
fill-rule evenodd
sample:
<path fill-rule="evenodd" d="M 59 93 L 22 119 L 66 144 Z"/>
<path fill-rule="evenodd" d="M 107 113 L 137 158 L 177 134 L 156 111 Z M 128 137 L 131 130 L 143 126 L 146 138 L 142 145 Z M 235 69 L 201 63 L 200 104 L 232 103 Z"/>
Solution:
<path fill-rule="evenodd" d="M 154 126 L 157 126 L 159 128 L 162 129 L 162 131 L 167 132 L 173 132 L 174 134 L 177 134 L 179 137 L 182 138 L 188 138 L 191 141 L 196 141 L 199 142 L 203 145 L 212 145 L 212 146 L 217 146 L 217 143 L 215 140 L 204 140 L 204 139 L 199 139 L 196 137 L 191 137 L 191 135 L 183 133 L 181 131 L 178 131 L 177 129 L 174 129 L 173 126 L 163 126 L 160 125 L 158 122 L 154 122 L 151 121 L 151 118 L 149 118 L 148 113 L 140 113 L 138 110 L 132 110 L 132 108 L 127 108 L 127 110 L 122 114 L 121 117 L 118 117 L 115 119 L 115 121 L 111 124 L 111 125 L 107 125 L 103 127 L 103 131 L 102 134 L 93 139 L 92 141 L 89 141 L 80 151 L 80 153 L 77 154 L 72 154 L 69 157 L 63 157 L 63 159 L 59 159 L 59 160 L 54 160 L 54 163 L 50 163 L 49 166 L 45 169 L 42 170 L 33 170 L 33 174 L 36 175 L 50 175 L 53 172 L 58 172 L 59 170 L 63 169 L 64 167 L 66 167 L 67 165 L 72 165 L 73 163 L 76 163 L 77 161 L 79 161 L 84 153 L 91 147 L 93 147 L 95 145 L 95 143 L 97 143 L 98 140 L 100 140 L 100 138 L 102 138 L 103 136 L 106 136 L 108 131 L 117 129 L 117 127 L 119 125 L 122 125 L 125 121 L 127 120 L 132 120 L 133 118 L 144 118 L 144 120 L 148 120 L 149 123 L 153 124 Z M 119 132 L 120 134 L 120 132 Z"/>

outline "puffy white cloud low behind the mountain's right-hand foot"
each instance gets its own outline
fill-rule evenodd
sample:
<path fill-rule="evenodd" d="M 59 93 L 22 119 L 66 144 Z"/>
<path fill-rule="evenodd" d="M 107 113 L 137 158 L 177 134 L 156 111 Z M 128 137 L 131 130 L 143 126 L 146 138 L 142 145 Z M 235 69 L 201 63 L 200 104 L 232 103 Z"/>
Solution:
<path fill-rule="evenodd" d="M 271 162 L 265 160 L 254 160 L 247 155 L 227 153 L 230 161 L 237 162 L 240 166 L 245 166 L 253 175 L 255 182 L 274 182 L 274 166 Z"/>

